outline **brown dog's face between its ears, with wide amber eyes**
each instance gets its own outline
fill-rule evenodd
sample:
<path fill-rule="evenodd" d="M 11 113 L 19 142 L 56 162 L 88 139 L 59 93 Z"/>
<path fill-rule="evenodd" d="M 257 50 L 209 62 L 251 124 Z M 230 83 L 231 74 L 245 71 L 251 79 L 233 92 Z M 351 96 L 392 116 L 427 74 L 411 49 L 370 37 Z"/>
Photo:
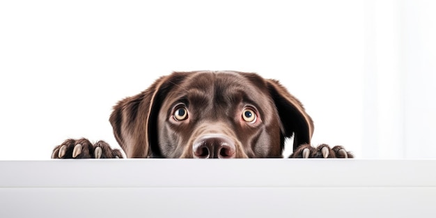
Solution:
<path fill-rule="evenodd" d="M 164 157 L 280 157 L 280 125 L 262 80 L 198 72 L 166 95 L 157 134 Z"/>

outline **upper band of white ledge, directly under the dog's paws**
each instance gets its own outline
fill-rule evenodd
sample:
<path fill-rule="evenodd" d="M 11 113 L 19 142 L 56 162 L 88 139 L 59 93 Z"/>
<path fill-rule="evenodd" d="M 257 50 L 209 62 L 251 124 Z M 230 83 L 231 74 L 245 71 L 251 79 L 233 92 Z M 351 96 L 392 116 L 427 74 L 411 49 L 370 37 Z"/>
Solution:
<path fill-rule="evenodd" d="M 0 161 L 0 187 L 436 187 L 436 160 Z"/>

